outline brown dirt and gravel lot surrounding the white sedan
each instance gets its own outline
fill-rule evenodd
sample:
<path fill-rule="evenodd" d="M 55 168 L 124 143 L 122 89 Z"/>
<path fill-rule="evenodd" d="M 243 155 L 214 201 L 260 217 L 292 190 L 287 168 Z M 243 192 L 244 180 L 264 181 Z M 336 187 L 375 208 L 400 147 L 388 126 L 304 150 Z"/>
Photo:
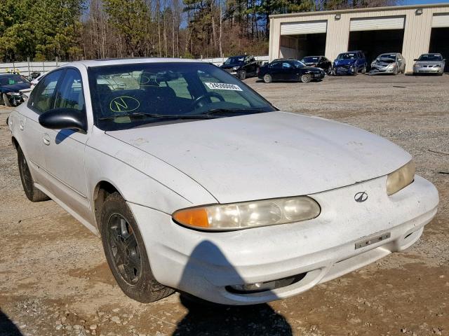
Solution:
<path fill-rule="evenodd" d="M 420 241 L 270 304 L 199 308 L 179 294 L 138 304 L 114 283 L 100 239 L 54 202 L 26 199 L 0 108 L 0 336 L 449 335 L 449 76 L 246 83 L 281 109 L 356 125 L 412 153 L 441 197 Z"/>

